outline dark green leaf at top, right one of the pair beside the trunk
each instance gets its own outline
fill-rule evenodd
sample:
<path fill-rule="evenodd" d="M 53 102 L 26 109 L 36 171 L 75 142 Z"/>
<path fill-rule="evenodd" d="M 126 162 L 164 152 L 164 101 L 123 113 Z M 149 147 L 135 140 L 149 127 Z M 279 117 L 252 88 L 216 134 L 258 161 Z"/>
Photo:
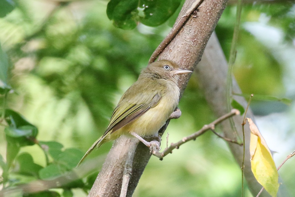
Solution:
<path fill-rule="evenodd" d="M 148 26 L 158 26 L 163 24 L 171 17 L 179 7 L 181 0 L 142 0 L 144 17 L 140 18 L 140 22 Z"/>

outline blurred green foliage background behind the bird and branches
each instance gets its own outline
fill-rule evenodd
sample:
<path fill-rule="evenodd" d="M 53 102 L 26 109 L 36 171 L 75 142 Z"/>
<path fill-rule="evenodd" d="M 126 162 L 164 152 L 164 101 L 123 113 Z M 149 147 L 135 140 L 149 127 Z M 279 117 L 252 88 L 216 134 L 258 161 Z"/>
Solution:
<path fill-rule="evenodd" d="M 52 180 L 76 166 L 83 152 L 104 133 L 120 96 L 147 65 L 183 3 L 14 2 L 13 10 L 1 8 L 5 16 L 0 19 L 1 133 L 5 135 L 0 138 L 0 184 L 8 188 L 39 179 Z M 227 58 L 235 9 L 229 5 L 216 27 Z M 290 3 L 243 7 L 235 76 L 245 95 L 284 97 L 286 67 L 276 51 L 243 24 L 263 23 L 263 17 L 267 18 L 264 25 L 283 32 L 281 44 L 292 45 L 294 16 Z M 172 120 L 167 129 L 169 143 L 214 120 L 198 86 L 193 75 L 179 104 L 182 116 Z M 265 113 L 286 109 L 285 105 L 270 107 L 273 102 L 257 108 L 260 113 L 261 109 Z M 266 102 L 256 101 L 256 106 L 260 103 Z M 104 157 L 110 146 L 102 146 L 90 157 Z M 289 177 L 294 169 L 292 172 L 289 169 Z M 60 186 L 62 190 L 26 196 L 86 196 L 96 175 Z M 205 133 L 162 162 L 152 157 L 134 196 L 239 196 L 240 187 L 240 167 L 226 144 L 212 133 Z M 295 193 L 291 186 L 289 190 Z"/>

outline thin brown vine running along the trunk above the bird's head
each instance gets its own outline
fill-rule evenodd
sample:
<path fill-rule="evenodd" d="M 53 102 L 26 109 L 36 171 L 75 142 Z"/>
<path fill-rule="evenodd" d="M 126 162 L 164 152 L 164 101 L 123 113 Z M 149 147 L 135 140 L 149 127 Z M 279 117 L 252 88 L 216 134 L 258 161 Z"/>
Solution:
<path fill-rule="evenodd" d="M 172 28 L 166 38 L 160 43 L 160 45 L 153 52 L 150 57 L 149 64 L 153 63 L 157 57 L 162 53 L 162 51 L 167 47 L 167 45 L 173 40 L 173 38 L 177 35 L 179 30 L 183 27 L 184 24 L 188 21 L 192 13 L 201 5 L 203 0 L 195 1 L 191 7 L 186 11 L 186 13 L 181 17 L 178 23 Z"/>

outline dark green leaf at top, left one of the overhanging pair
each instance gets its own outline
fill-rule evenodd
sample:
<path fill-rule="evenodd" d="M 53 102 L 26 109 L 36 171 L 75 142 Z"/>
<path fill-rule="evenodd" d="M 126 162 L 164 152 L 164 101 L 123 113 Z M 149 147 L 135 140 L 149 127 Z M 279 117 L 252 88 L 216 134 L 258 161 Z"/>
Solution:
<path fill-rule="evenodd" d="M 130 30 L 137 25 L 138 0 L 111 0 L 109 1 L 106 14 L 109 19 L 114 20 L 116 27 Z"/>

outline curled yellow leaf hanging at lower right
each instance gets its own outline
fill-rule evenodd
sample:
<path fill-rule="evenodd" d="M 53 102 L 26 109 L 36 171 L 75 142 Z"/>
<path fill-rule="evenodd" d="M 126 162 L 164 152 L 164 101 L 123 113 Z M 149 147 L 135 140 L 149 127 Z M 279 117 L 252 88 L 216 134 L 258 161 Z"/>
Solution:
<path fill-rule="evenodd" d="M 250 118 L 247 118 L 247 120 L 251 130 L 251 170 L 258 183 L 260 183 L 271 196 L 276 197 L 279 187 L 276 164 L 257 126 Z"/>

